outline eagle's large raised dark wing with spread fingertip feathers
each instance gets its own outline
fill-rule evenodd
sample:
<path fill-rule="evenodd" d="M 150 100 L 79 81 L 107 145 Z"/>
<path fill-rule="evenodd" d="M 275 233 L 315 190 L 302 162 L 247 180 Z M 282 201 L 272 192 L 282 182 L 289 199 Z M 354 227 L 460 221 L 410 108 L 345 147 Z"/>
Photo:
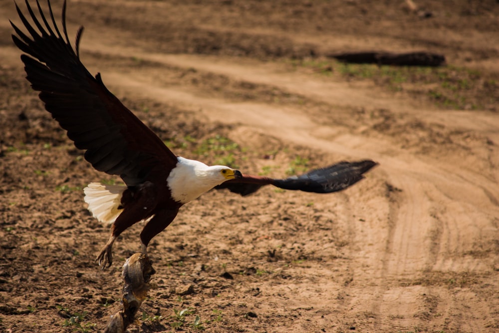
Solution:
<path fill-rule="evenodd" d="M 12 22 L 16 35 L 12 39 L 28 55 L 21 55 L 26 78 L 45 109 L 52 114 L 67 136 L 92 166 L 111 175 L 120 175 L 129 186 L 148 180 L 153 173 L 168 174 L 177 157 L 161 139 L 127 109 L 104 85 L 100 74 L 93 77 L 79 59 L 79 41 L 83 27 L 76 35 L 76 52 L 66 30 L 66 1 L 62 7 L 62 32 L 54 20 L 50 2 L 47 21 L 38 0 L 41 22 L 26 0 L 34 24 L 30 24 L 15 4 L 28 31 L 24 34 Z"/>

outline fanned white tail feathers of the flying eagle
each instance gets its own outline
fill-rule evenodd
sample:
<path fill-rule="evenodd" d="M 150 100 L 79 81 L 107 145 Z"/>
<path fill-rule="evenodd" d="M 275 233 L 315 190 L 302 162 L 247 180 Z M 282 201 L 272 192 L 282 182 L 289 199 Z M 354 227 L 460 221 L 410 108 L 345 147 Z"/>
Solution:
<path fill-rule="evenodd" d="M 83 189 L 85 202 L 93 217 L 104 224 L 113 224 L 123 209 L 118 209 L 121 196 L 126 190 L 124 185 L 105 185 L 90 183 Z"/>

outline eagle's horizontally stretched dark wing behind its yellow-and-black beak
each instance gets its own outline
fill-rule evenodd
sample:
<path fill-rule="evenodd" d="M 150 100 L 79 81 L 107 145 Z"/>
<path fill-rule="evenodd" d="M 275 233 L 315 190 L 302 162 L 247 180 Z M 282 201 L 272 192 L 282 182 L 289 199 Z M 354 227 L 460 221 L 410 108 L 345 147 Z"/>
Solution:
<path fill-rule="evenodd" d="M 256 192 L 260 187 L 273 185 L 286 190 L 300 190 L 314 193 L 331 193 L 341 191 L 363 179 L 363 174 L 377 163 L 371 160 L 359 162 L 339 162 L 326 168 L 315 169 L 301 176 L 286 179 L 243 175 L 242 178 L 231 179 L 217 186 L 227 188 L 242 196 Z"/>

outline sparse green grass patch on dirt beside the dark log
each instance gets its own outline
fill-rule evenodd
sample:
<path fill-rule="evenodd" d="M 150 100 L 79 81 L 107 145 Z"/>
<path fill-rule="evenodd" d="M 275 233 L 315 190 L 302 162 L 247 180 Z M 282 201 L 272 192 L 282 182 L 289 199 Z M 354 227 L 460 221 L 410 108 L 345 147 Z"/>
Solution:
<path fill-rule="evenodd" d="M 499 110 L 499 77 L 458 67 L 350 64 L 333 59 L 293 60 L 292 65 L 349 81 L 372 80 L 380 87 L 425 98 L 437 107 L 457 110 Z"/>

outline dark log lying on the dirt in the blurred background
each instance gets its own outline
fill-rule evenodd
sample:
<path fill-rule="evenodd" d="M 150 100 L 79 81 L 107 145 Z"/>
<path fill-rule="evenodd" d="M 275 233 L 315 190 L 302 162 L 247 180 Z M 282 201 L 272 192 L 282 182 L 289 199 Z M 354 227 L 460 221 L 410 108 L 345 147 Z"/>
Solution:
<path fill-rule="evenodd" d="M 375 63 L 393 66 L 442 66 L 445 64 L 443 54 L 431 52 L 345 52 L 330 54 L 328 57 L 348 63 Z"/>

